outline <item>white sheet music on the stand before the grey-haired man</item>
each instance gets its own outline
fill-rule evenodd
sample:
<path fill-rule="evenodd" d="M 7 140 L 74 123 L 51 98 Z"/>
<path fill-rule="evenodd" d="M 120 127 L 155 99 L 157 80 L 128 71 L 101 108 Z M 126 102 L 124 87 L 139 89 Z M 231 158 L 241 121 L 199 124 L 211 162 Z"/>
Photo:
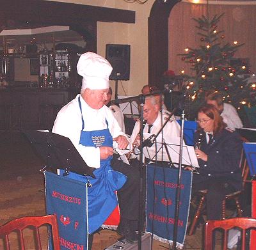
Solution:
<path fill-rule="evenodd" d="M 152 134 L 143 133 L 143 138 L 147 139 L 151 135 Z M 166 143 L 172 162 L 174 164 L 179 164 L 180 137 L 164 139 L 164 142 Z M 168 154 L 162 143 L 161 134 L 157 136 L 156 143 L 154 143 L 154 145 L 152 145 L 150 148 L 143 148 L 143 155 L 152 160 L 169 161 Z M 199 168 L 194 147 L 185 145 L 185 143 L 183 144 L 182 149 L 182 164 Z"/>

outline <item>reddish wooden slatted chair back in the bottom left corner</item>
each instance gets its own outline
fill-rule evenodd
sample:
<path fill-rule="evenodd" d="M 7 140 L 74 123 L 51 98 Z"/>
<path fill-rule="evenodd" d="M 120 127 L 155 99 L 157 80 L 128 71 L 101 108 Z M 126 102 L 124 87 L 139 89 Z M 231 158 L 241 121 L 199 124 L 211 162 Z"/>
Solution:
<path fill-rule="evenodd" d="M 35 230 L 36 249 L 42 250 L 39 227 L 48 224 L 51 225 L 52 242 L 54 250 L 60 250 L 59 231 L 56 215 L 31 216 L 14 219 L 3 226 L 0 226 L 0 238 L 4 238 L 4 246 L 6 250 L 10 250 L 9 235 L 13 231 L 17 231 L 19 244 L 22 250 L 25 249 L 23 230 L 25 228 L 33 228 Z M 49 228 L 49 227 L 48 227 Z"/>

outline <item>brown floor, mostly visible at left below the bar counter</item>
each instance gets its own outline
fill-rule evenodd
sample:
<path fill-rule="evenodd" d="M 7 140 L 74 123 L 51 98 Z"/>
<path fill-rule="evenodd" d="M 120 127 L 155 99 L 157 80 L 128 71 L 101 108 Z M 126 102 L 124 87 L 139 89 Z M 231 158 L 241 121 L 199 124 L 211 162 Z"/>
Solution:
<path fill-rule="evenodd" d="M 20 134 L 0 133 L 0 225 L 17 217 L 29 215 L 45 215 L 44 175 L 39 169 L 44 166 L 36 157 L 28 141 Z M 31 235 L 26 231 L 28 242 Z M 46 229 L 42 229 L 45 237 L 42 242 L 47 248 Z M 93 250 L 105 249 L 116 242 L 120 236 L 111 230 L 101 230 L 93 239 Z M 15 239 L 15 235 L 11 238 Z M 0 249 L 3 249 L 0 240 Z M 220 243 L 219 243 L 220 244 Z M 13 249 L 18 250 L 17 242 Z M 28 243 L 28 250 L 35 249 Z M 172 249 L 168 244 L 154 240 L 154 250 Z M 195 235 L 187 236 L 184 249 L 203 249 L 202 227 Z M 220 246 L 218 247 L 220 249 Z"/>

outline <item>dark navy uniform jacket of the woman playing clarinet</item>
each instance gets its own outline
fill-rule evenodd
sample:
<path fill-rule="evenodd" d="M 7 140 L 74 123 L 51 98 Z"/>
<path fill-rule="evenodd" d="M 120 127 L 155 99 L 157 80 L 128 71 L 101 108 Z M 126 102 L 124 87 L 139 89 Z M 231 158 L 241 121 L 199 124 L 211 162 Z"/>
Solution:
<path fill-rule="evenodd" d="M 200 179 L 223 180 L 235 189 L 242 189 L 241 169 L 239 162 L 242 152 L 242 141 L 236 132 L 223 129 L 213 136 L 212 143 L 207 144 L 204 131 L 195 132 L 195 145 L 201 141 L 200 150 L 208 155 L 208 160 L 198 159 Z"/>

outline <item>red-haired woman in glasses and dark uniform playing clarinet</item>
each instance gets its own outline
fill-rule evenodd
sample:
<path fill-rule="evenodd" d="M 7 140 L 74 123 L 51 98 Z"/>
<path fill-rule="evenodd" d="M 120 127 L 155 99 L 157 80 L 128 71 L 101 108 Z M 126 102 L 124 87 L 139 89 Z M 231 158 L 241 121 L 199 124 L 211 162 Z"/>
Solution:
<path fill-rule="evenodd" d="M 242 189 L 239 160 L 242 141 L 226 129 L 218 110 L 205 105 L 198 111 L 195 133 L 199 175 L 193 175 L 192 192 L 207 189 L 207 219 L 221 219 L 221 202 L 226 194 Z"/>

